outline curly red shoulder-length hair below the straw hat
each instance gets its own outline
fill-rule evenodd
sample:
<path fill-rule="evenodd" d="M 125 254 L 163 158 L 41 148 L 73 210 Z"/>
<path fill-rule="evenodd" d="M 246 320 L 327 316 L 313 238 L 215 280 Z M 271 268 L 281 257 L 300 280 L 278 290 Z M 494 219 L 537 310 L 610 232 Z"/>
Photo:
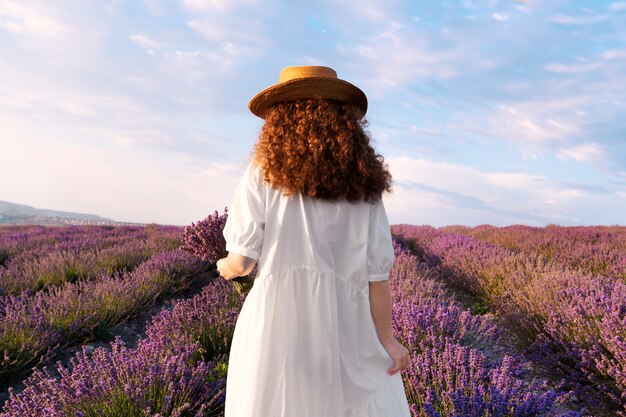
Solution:
<path fill-rule="evenodd" d="M 322 99 L 274 105 L 253 150 L 264 180 L 283 189 L 335 201 L 369 202 L 391 191 L 384 158 L 370 145 L 356 106 Z"/>

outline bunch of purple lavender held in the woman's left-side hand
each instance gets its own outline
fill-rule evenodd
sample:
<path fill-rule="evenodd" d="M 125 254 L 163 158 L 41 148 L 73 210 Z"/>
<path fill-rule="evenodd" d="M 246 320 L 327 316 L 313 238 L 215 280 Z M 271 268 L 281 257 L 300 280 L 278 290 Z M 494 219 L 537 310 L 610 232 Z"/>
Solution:
<path fill-rule="evenodd" d="M 228 209 L 224 208 L 224 213 L 219 214 L 217 210 L 209 214 L 206 219 L 197 223 L 191 222 L 191 226 L 186 226 L 183 230 L 183 245 L 181 249 L 192 255 L 196 255 L 212 264 L 217 263 L 221 258 L 228 255 L 226 251 L 226 240 L 224 239 L 224 225 L 228 218 Z M 254 284 L 255 271 L 250 275 L 237 277 L 229 280 L 233 283 L 239 295 L 248 293 Z"/>

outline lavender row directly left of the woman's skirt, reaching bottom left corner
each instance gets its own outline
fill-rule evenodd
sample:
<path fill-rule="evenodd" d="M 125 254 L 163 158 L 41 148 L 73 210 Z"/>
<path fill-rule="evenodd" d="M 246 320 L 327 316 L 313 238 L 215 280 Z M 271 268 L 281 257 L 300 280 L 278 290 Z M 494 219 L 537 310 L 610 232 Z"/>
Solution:
<path fill-rule="evenodd" d="M 228 352 L 245 297 L 221 278 L 151 319 L 136 349 L 83 348 L 55 378 L 36 370 L 0 417 L 222 416 Z"/>

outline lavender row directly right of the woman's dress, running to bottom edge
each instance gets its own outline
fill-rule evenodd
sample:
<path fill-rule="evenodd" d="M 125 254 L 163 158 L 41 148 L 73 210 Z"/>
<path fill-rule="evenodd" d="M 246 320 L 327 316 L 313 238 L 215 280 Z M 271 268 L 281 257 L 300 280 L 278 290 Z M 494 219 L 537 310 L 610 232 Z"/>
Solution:
<path fill-rule="evenodd" d="M 427 271 L 396 247 L 392 318 L 411 351 L 403 378 L 414 416 L 583 415 L 559 411 L 567 393 L 549 389 L 543 380 L 523 382 L 527 363 L 522 357 L 505 354 L 488 365 L 481 350 L 501 344 L 501 330 L 488 317 L 460 309 Z"/>

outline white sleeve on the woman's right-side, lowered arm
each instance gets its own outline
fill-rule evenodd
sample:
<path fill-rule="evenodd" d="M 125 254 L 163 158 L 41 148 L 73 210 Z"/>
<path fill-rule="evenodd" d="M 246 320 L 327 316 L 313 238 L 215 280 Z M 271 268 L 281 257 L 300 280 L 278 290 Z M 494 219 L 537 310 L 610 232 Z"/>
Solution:
<path fill-rule="evenodd" d="M 385 281 L 393 265 L 393 243 L 391 228 L 383 200 L 370 207 L 369 241 L 367 243 L 368 281 Z"/>

